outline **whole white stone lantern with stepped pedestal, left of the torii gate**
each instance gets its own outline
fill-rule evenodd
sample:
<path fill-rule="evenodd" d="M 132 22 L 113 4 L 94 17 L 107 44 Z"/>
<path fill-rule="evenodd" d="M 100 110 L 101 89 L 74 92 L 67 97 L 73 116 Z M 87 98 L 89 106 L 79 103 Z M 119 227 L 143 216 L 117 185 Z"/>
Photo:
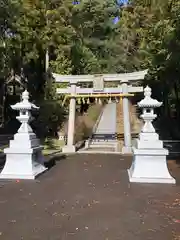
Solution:
<path fill-rule="evenodd" d="M 29 102 L 29 93 L 25 90 L 22 93 L 22 101 L 11 108 L 20 112 L 16 118 L 21 122 L 21 126 L 10 141 L 9 147 L 4 149 L 6 163 L 0 178 L 35 179 L 46 170 L 42 156 L 43 147 L 29 125 L 30 111 L 39 107 Z"/>

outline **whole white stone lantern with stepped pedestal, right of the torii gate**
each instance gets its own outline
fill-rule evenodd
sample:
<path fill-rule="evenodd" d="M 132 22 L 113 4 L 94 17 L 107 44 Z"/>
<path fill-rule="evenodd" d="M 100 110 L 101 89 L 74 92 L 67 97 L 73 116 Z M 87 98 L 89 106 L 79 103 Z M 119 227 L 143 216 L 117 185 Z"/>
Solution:
<path fill-rule="evenodd" d="M 130 182 L 144 183 L 175 183 L 175 179 L 169 174 L 166 156 L 169 154 L 163 148 L 163 142 L 159 140 L 152 121 L 157 117 L 154 108 L 160 107 L 161 102 L 151 98 L 151 88 L 144 89 L 144 99 L 138 103 L 143 109 L 141 118 L 144 120 L 139 139 L 136 139 L 133 150 L 133 162 L 128 169 Z"/>

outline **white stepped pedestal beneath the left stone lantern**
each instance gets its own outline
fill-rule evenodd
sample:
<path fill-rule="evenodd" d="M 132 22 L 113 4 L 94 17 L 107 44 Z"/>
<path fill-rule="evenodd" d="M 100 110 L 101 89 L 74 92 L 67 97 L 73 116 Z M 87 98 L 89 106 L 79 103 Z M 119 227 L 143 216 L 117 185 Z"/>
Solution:
<path fill-rule="evenodd" d="M 44 167 L 43 147 L 34 133 L 17 133 L 10 147 L 4 149 L 6 163 L 0 179 L 35 179 L 47 168 Z"/>

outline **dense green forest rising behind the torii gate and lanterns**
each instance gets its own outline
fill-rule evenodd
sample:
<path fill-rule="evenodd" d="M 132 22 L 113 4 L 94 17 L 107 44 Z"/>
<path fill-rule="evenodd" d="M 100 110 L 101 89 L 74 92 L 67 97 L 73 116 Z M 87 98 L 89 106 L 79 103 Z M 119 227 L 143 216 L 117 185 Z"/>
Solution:
<path fill-rule="evenodd" d="M 144 85 L 149 84 L 163 101 L 159 125 L 166 135 L 179 138 L 178 0 L 0 0 L 0 53 L 1 109 L 10 102 L 3 96 L 13 69 L 40 104 L 36 124 L 46 133 L 47 126 L 56 127 L 64 111 L 50 72 L 122 73 L 148 68 Z"/>

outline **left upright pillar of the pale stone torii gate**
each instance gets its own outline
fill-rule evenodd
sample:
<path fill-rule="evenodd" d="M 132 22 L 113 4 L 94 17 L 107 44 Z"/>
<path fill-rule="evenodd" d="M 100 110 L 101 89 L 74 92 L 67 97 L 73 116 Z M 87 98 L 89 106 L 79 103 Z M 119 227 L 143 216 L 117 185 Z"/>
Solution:
<path fill-rule="evenodd" d="M 74 129 L 76 117 L 76 98 L 73 96 L 76 93 L 76 83 L 71 83 L 71 99 L 69 104 L 69 121 L 68 121 L 68 139 L 67 145 L 63 147 L 64 153 L 73 153 L 76 151 L 74 145 Z"/>

